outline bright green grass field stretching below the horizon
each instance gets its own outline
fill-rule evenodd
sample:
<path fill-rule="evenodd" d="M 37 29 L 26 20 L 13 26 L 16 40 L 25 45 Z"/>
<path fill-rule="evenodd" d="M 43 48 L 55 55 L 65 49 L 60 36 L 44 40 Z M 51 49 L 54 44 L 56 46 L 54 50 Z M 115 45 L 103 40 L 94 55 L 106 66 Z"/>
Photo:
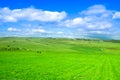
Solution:
<path fill-rule="evenodd" d="M 0 38 L 0 80 L 120 80 L 120 43 Z"/>

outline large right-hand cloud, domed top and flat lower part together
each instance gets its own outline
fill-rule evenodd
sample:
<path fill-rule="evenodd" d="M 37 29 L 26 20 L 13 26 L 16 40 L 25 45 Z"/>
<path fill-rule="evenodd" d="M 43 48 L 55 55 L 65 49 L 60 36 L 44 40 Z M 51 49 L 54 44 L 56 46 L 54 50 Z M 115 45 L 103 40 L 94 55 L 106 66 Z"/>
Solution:
<path fill-rule="evenodd" d="M 66 20 L 62 25 L 66 27 L 106 29 L 113 26 L 111 17 L 112 11 L 107 10 L 103 5 L 94 5 L 87 10 L 81 11 L 79 17 Z"/>

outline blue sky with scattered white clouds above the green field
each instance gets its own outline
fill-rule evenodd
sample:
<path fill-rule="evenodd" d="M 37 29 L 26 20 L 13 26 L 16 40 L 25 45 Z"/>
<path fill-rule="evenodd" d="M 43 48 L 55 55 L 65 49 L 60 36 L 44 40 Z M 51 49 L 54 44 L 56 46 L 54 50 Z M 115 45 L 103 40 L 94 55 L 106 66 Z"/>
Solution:
<path fill-rule="evenodd" d="M 119 0 L 0 0 L 0 36 L 120 39 Z"/>

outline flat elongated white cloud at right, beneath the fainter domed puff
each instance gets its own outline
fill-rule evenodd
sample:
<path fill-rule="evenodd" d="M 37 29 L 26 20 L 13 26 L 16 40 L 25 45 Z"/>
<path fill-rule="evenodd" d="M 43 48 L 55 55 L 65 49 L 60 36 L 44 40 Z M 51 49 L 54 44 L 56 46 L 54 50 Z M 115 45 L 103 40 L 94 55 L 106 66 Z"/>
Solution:
<path fill-rule="evenodd" d="M 74 18 L 66 20 L 62 25 L 66 27 L 84 27 L 88 29 L 106 29 L 112 27 L 112 23 L 106 19 L 98 19 L 93 17 Z"/>

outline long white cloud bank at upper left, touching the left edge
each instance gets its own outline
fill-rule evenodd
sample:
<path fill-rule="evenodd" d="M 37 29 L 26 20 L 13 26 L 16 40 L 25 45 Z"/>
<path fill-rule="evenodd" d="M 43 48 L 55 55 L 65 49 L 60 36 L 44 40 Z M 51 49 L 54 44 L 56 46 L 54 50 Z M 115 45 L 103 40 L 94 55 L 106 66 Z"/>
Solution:
<path fill-rule="evenodd" d="M 66 17 L 66 12 L 43 11 L 35 8 L 9 9 L 0 8 L 0 20 L 4 22 L 17 22 L 19 20 L 53 22 Z"/>

